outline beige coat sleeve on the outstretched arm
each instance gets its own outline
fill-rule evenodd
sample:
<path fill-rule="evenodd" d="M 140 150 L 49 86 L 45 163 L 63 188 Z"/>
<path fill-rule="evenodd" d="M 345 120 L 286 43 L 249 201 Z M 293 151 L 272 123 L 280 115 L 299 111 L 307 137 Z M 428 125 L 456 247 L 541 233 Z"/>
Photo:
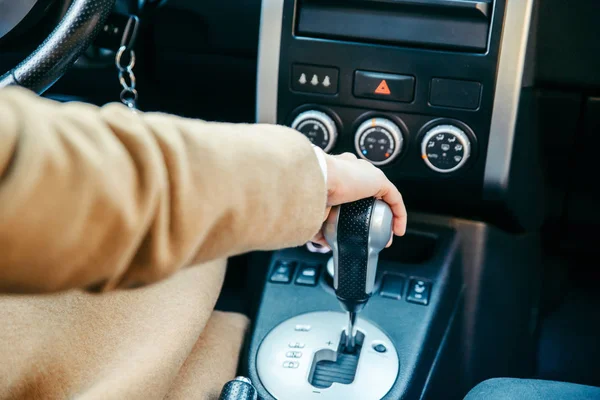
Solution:
<path fill-rule="evenodd" d="M 140 286 L 300 245 L 325 204 L 313 148 L 291 129 L 0 90 L 0 292 Z"/>

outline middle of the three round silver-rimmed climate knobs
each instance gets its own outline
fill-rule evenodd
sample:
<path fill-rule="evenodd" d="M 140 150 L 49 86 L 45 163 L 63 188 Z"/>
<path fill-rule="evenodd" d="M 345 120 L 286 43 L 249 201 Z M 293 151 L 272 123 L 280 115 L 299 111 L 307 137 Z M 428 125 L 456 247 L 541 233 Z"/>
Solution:
<path fill-rule="evenodd" d="M 356 130 L 354 146 L 361 158 L 374 165 L 389 164 L 402 151 L 404 137 L 394 122 L 385 118 L 372 118 Z"/>

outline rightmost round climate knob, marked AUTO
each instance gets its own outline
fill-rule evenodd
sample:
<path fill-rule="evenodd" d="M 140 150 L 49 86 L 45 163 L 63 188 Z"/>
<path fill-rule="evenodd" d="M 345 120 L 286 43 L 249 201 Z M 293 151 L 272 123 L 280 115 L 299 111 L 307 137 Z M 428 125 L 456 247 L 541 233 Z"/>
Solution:
<path fill-rule="evenodd" d="M 462 168 L 471 155 L 471 140 L 456 125 L 438 125 L 429 129 L 421 142 L 421 158 L 440 173 Z"/>

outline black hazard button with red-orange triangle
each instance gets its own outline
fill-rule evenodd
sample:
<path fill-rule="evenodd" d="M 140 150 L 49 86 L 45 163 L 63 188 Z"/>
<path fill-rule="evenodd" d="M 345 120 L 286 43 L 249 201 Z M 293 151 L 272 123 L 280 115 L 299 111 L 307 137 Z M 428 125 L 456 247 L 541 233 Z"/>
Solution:
<path fill-rule="evenodd" d="M 372 71 L 354 73 L 354 96 L 410 103 L 415 93 L 415 77 Z"/>

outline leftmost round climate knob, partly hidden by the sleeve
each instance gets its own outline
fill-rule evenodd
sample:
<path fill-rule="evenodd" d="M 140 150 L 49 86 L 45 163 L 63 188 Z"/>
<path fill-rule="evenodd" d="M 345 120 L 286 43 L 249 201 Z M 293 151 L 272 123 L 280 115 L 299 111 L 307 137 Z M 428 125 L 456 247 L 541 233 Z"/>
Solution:
<path fill-rule="evenodd" d="M 306 136 L 312 144 L 330 151 L 337 139 L 337 127 L 331 117 L 324 112 L 304 111 L 294 119 L 292 128 Z"/>

